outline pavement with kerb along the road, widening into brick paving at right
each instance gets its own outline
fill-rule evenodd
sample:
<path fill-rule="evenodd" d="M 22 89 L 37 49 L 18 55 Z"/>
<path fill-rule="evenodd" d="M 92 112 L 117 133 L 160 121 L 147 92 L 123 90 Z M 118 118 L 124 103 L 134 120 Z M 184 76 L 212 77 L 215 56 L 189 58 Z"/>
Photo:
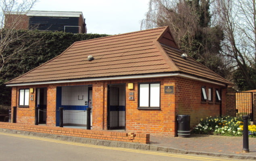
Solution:
<path fill-rule="evenodd" d="M 237 136 L 214 136 L 191 134 L 189 138 L 171 137 L 161 135 L 150 135 L 150 144 L 135 144 L 129 142 L 116 142 L 110 140 L 97 140 L 90 138 L 77 138 L 72 136 L 58 136 L 53 134 L 42 134 L 9 129 L 1 129 L 0 132 L 32 135 L 85 144 L 97 144 L 109 147 L 123 147 L 142 149 L 150 151 L 164 151 L 169 153 L 184 153 L 210 155 L 216 157 L 229 157 L 236 159 L 256 160 L 256 138 L 249 138 L 249 153 L 242 153 L 243 137 Z"/>

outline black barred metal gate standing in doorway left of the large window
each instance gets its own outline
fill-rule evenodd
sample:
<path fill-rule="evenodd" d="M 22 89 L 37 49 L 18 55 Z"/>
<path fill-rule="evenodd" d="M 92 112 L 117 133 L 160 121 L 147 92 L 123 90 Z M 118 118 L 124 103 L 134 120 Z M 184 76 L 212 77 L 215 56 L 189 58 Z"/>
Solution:
<path fill-rule="evenodd" d="M 108 129 L 119 128 L 119 88 L 108 86 Z"/>

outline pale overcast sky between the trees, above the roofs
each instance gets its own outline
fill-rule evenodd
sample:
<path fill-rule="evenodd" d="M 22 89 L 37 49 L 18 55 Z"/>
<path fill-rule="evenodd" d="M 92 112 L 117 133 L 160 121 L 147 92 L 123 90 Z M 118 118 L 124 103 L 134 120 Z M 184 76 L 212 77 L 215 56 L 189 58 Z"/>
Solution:
<path fill-rule="evenodd" d="M 31 10 L 83 12 L 87 33 L 119 34 L 140 30 L 149 0 L 39 0 Z"/>

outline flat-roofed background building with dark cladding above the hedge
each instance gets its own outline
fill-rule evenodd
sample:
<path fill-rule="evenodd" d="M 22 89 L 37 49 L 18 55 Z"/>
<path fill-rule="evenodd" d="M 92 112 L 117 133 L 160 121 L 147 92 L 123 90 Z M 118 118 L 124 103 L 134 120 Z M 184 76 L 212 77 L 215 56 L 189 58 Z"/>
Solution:
<path fill-rule="evenodd" d="M 36 11 L 26 14 L 8 14 L 6 26 L 20 23 L 16 29 L 38 29 L 44 31 L 63 31 L 69 33 L 87 33 L 82 12 Z"/>

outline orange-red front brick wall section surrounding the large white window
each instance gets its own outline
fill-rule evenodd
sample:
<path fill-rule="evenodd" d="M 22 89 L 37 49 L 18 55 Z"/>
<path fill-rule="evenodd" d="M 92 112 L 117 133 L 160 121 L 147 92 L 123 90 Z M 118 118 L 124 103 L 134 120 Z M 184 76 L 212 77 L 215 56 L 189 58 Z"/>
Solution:
<path fill-rule="evenodd" d="M 137 109 L 138 83 L 161 82 L 161 109 Z M 175 95 L 164 94 L 164 86 L 175 85 L 173 78 L 147 78 L 128 81 L 134 89 L 126 85 L 126 130 L 148 132 L 151 134 L 174 135 L 175 132 Z M 129 100 L 129 92 L 134 92 L 134 101 Z"/>

